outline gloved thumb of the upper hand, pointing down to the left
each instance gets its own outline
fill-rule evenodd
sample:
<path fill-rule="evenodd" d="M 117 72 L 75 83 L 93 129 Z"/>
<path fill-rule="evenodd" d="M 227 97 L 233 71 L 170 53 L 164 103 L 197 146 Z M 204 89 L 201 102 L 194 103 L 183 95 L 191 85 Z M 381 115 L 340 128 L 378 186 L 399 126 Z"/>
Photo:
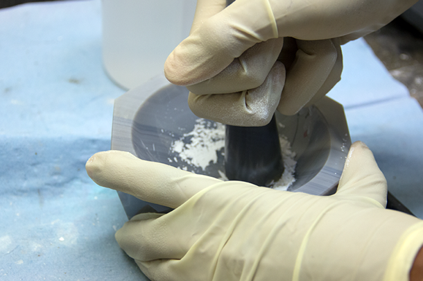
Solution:
<path fill-rule="evenodd" d="M 254 21 L 245 17 L 254 10 Z M 234 58 L 259 42 L 277 38 L 274 19 L 267 1 L 234 1 L 202 24 L 169 55 L 164 74 L 175 85 L 193 85 L 219 74 Z M 269 23 L 270 21 L 270 23 Z M 258 33 L 259 26 L 273 32 Z M 270 28 L 268 28 L 270 26 Z"/>

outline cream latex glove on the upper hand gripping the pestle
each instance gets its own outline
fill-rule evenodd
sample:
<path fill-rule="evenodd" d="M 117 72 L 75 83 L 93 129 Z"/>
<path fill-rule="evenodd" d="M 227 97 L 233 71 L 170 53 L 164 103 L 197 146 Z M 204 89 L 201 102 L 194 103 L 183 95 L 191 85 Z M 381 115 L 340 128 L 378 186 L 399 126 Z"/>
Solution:
<path fill-rule="evenodd" d="M 262 126 L 275 109 L 295 114 L 327 94 L 340 80 L 340 44 L 376 31 L 416 1 L 236 0 L 225 8 L 225 0 L 198 0 L 191 35 L 164 71 L 171 83 L 188 86 L 199 117 Z M 281 63 L 284 37 L 297 47 L 283 51 Z"/>

